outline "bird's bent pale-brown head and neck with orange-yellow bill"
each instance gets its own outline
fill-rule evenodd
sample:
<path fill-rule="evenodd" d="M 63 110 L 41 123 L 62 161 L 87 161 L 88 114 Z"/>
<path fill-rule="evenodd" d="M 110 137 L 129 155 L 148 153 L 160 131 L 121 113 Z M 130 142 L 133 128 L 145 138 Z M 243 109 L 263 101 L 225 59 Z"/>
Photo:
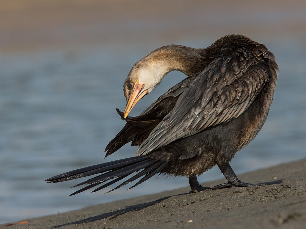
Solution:
<path fill-rule="evenodd" d="M 192 49 L 182 45 L 166 45 L 155 49 L 138 61 L 123 84 L 126 98 L 124 118 L 135 104 L 154 90 L 170 71 L 181 71 L 190 76 L 203 69 L 204 49 Z"/>

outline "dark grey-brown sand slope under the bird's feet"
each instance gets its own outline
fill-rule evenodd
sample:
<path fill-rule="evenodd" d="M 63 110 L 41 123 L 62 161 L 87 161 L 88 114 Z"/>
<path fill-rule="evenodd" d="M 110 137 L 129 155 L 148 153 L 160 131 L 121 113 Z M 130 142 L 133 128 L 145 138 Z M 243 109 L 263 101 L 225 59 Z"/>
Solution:
<path fill-rule="evenodd" d="M 306 159 L 238 176 L 246 182 L 266 184 L 259 187 L 190 194 L 189 187 L 181 188 L 29 219 L 26 224 L 5 228 L 305 228 L 305 168 Z"/>

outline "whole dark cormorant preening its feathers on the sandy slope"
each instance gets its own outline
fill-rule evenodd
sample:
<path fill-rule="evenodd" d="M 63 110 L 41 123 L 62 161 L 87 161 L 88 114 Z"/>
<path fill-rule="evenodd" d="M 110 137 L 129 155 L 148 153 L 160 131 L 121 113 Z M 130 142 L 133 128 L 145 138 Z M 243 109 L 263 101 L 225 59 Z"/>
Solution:
<path fill-rule="evenodd" d="M 174 70 L 187 78 L 140 115 L 129 116 L 136 103 Z M 124 81 L 127 104 L 124 112 L 116 110 L 125 125 L 105 149 L 106 157 L 131 142 L 139 146 L 136 156 L 76 169 L 46 181 L 99 174 L 73 186 L 87 185 L 71 195 L 102 184 L 92 192 L 99 191 L 133 173 L 110 191 L 141 178 L 133 188 L 159 174 L 188 177 L 191 192 L 254 185 L 239 180 L 229 163 L 266 121 L 278 74 L 273 53 L 244 35 L 226 35 L 204 49 L 183 45 L 155 49 L 136 62 Z M 197 176 L 215 165 L 227 182 L 201 186 Z"/>

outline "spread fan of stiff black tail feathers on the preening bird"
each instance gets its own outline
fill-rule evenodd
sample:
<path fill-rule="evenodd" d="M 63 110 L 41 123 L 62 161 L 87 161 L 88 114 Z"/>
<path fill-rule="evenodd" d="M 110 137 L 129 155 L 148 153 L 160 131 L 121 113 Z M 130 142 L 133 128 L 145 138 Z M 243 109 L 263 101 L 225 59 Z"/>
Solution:
<path fill-rule="evenodd" d="M 47 183 L 57 183 L 57 182 L 62 182 L 66 180 L 73 180 L 73 179 L 77 179 L 80 177 L 91 176 L 91 175 L 102 173 L 101 175 L 95 176 L 91 179 L 88 179 L 84 182 L 81 182 L 80 184 L 73 186 L 73 187 L 77 187 L 80 185 L 88 185 L 70 194 L 70 195 L 75 195 L 77 193 L 88 190 L 92 187 L 95 187 L 99 184 L 102 184 L 107 180 L 111 180 L 110 182 L 103 184 L 102 186 L 96 188 L 92 192 L 99 191 L 105 187 L 110 186 L 111 184 L 116 183 L 119 180 L 124 179 L 130 174 L 134 172 L 138 172 L 139 170 L 143 169 L 142 171 L 138 172 L 136 175 L 124 181 L 122 184 L 108 191 L 108 192 L 111 192 L 126 184 L 129 184 L 130 182 L 140 178 L 141 176 L 144 176 L 140 181 L 138 181 L 134 186 L 132 186 L 132 187 L 135 187 L 136 185 L 149 179 L 151 176 L 157 173 L 160 173 L 165 166 L 166 166 L 166 162 L 155 161 L 147 156 L 138 156 L 138 157 L 120 159 L 120 160 L 116 160 L 112 162 L 106 162 L 106 163 L 102 163 L 99 165 L 92 165 L 92 166 L 88 166 L 82 169 L 76 169 L 68 173 L 63 173 L 57 176 L 53 176 L 45 181 L 47 181 Z"/>

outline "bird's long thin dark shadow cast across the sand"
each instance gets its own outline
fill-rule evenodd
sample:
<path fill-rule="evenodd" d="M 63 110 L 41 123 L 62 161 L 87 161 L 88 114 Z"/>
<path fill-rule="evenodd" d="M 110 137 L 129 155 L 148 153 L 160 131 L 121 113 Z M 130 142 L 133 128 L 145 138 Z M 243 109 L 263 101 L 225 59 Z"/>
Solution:
<path fill-rule="evenodd" d="M 266 184 L 266 185 L 281 184 L 282 181 L 283 180 L 274 180 L 274 181 L 265 182 L 265 183 L 261 183 L 261 184 Z M 182 193 L 182 194 L 172 195 L 172 196 L 180 196 L 180 195 L 186 195 L 186 194 L 189 194 L 189 193 Z M 147 208 L 149 206 L 153 206 L 153 205 L 158 204 L 158 203 L 162 202 L 163 200 L 166 200 L 166 199 L 168 199 L 172 196 L 166 196 L 166 197 L 163 197 L 163 198 L 160 198 L 158 200 L 154 200 L 154 201 L 151 201 L 151 202 L 148 202 L 148 203 L 126 206 L 124 209 L 119 209 L 119 210 L 116 210 L 116 211 L 113 211 L 113 212 L 104 213 L 104 214 L 101 214 L 101 215 L 98 215 L 98 216 L 88 217 L 84 220 L 77 220 L 77 221 L 74 221 L 74 222 L 71 222 L 71 223 L 57 225 L 57 226 L 54 226 L 52 228 L 59 228 L 59 227 L 67 226 L 67 225 L 91 223 L 91 222 L 95 222 L 95 221 L 98 221 L 98 220 L 103 220 L 103 219 L 108 218 L 110 216 L 112 216 L 112 217 L 109 218 L 108 220 L 112 220 L 112 219 L 116 218 L 117 216 L 123 215 L 125 213 L 133 212 L 133 211 L 139 211 L 139 210 Z"/>

